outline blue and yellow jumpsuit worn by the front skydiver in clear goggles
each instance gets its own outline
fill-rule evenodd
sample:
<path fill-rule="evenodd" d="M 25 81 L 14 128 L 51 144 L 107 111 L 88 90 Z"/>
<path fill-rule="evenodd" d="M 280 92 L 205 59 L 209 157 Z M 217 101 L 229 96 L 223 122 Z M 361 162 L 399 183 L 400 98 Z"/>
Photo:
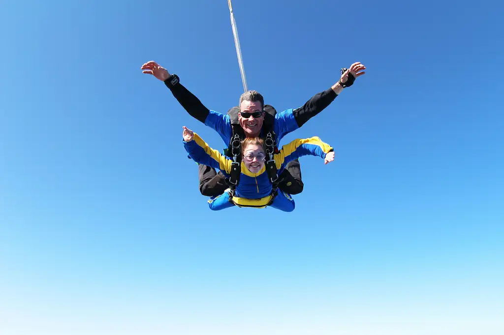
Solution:
<path fill-rule="evenodd" d="M 219 169 L 226 178 L 230 177 L 232 160 L 219 151 L 212 149 L 198 134 L 194 134 L 194 140 L 185 142 L 182 139 L 185 150 L 189 156 L 200 164 L 212 166 Z M 277 167 L 277 174 L 281 174 L 287 163 L 291 160 L 304 155 L 319 156 L 326 158 L 326 154 L 333 151 L 333 148 L 322 142 L 319 137 L 305 139 L 295 139 L 280 149 L 280 152 L 273 155 Z M 236 186 L 233 202 L 229 201 L 229 192 L 223 195 L 212 197 L 208 201 L 211 210 L 218 211 L 224 208 L 234 206 L 235 204 L 243 207 L 266 207 L 272 198 L 273 185 L 266 173 L 266 166 L 256 174 L 251 173 L 241 162 L 240 181 Z M 294 200 L 287 193 L 278 190 L 273 203 L 273 208 L 285 212 L 294 210 Z"/>

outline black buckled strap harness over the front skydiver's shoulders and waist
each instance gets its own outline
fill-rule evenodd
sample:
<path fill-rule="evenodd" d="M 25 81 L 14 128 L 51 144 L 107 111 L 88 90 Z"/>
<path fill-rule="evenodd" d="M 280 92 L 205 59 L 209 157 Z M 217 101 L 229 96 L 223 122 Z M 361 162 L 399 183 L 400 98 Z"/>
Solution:
<path fill-rule="evenodd" d="M 273 130 L 273 125 L 275 122 L 275 114 L 276 110 L 270 106 L 264 106 L 264 122 L 263 128 L 261 131 L 261 138 L 264 141 L 266 146 L 266 172 L 268 174 L 268 179 L 272 184 L 272 192 L 271 192 L 271 200 L 266 205 L 247 205 L 243 204 L 240 201 L 233 201 L 233 197 L 235 196 L 236 186 L 240 181 L 241 175 L 241 141 L 245 139 L 245 133 L 238 123 L 238 113 L 239 107 L 233 107 L 228 111 L 228 115 L 231 119 L 231 140 L 229 141 L 229 145 L 227 149 L 224 150 L 224 154 L 233 157 L 233 161 L 231 162 L 231 173 L 227 182 L 229 183 L 229 201 L 234 203 L 238 207 L 255 207 L 262 208 L 266 206 L 270 206 L 275 200 L 275 197 L 278 192 L 278 185 L 282 181 L 278 178 L 277 173 L 277 165 L 275 163 L 275 159 L 273 159 L 273 155 L 278 153 L 278 147 L 276 142 L 276 134 Z"/>

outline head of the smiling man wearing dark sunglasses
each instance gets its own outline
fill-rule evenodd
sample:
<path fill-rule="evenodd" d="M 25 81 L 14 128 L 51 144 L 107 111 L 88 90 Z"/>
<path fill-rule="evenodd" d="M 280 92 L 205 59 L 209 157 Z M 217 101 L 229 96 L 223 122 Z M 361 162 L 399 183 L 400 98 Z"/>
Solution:
<path fill-rule="evenodd" d="M 238 122 L 246 137 L 257 137 L 261 134 L 264 121 L 264 98 L 257 91 L 248 91 L 240 97 Z"/>

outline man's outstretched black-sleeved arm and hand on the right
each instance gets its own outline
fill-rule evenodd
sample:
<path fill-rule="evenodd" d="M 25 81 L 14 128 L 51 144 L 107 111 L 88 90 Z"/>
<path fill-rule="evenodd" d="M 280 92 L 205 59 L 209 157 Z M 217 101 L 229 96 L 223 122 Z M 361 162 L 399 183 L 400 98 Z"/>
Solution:
<path fill-rule="evenodd" d="M 322 112 L 334 101 L 334 99 L 336 99 L 341 91 L 343 91 L 344 86 L 346 86 L 345 84 L 349 80 L 349 75 L 353 76 L 353 78 L 350 77 L 350 80 L 353 83 L 353 80 L 355 80 L 355 78 L 365 73 L 363 71 L 365 68 L 366 67 L 360 62 L 353 63 L 350 68 L 341 75 L 340 80 L 335 83 L 330 89 L 314 95 L 303 106 L 295 109 L 292 114 L 294 114 L 297 126 L 301 127 L 306 123 L 306 121 Z"/>

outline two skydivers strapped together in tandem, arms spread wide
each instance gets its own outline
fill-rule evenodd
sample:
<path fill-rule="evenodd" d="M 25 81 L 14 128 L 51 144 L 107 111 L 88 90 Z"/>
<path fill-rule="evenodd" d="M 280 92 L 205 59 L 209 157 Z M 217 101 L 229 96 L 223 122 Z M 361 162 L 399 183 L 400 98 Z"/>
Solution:
<path fill-rule="evenodd" d="M 316 155 L 328 163 L 334 159 L 334 151 L 318 137 L 296 139 L 279 150 L 280 140 L 323 111 L 344 88 L 352 86 L 355 79 L 365 73 L 365 66 L 359 62 L 343 68 L 335 85 L 297 109 L 276 113 L 272 106 L 264 105 L 261 94 L 248 91 L 241 95 L 237 107 L 221 114 L 206 108 L 181 85 L 176 74 L 170 75 L 156 62 L 147 62 L 142 69 L 162 80 L 180 105 L 217 131 L 228 146 L 224 154 L 220 154 L 184 127 L 183 145 L 189 156 L 199 163 L 200 192 L 211 197 L 210 209 L 271 206 L 287 212 L 294 209 L 291 196 L 303 189 L 298 158 Z"/>

